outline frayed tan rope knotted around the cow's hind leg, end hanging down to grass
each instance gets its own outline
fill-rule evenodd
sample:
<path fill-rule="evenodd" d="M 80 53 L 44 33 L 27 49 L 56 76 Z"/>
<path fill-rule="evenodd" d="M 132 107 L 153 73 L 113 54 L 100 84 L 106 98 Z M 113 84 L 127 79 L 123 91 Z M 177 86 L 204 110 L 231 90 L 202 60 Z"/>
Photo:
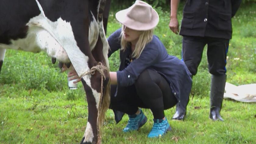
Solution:
<path fill-rule="evenodd" d="M 100 100 L 99 100 L 98 116 L 97 116 L 97 132 L 98 132 L 98 142 L 97 143 L 99 143 L 99 142 L 101 142 L 99 119 L 100 119 L 101 103 L 102 103 L 102 97 L 103 97 L 103 78 L 104 78 L 104 80 L 106 79 L 104 72 L 106 70 L 108 70 L 108 68 L 106 66 L 104 66 L 101 62 L 99 62 L 98 65 L 92 67 L 90 71 L 82 74 L 82 77 L 84 77 L 88 74 L 94 75 L 96 70 L 101 74 L 101 96 L 100 96 Z"/>

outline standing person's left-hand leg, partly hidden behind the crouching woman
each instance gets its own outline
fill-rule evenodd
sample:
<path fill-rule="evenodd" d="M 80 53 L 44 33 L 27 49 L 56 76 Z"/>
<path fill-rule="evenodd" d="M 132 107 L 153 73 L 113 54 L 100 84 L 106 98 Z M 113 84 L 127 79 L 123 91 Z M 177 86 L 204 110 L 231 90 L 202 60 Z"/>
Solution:
<path fill-rule="evenodd" d="M 201 62 L 204 46 L 206 42 L 203 37 L 183 36 L 182 59 L 192 75 L 197 74 L 197 68 Z M 187 101 L 180 101 L 176 105 L 176 113 L 172 117 L 174 120 L 184 120 L 186 116 Z"/>

